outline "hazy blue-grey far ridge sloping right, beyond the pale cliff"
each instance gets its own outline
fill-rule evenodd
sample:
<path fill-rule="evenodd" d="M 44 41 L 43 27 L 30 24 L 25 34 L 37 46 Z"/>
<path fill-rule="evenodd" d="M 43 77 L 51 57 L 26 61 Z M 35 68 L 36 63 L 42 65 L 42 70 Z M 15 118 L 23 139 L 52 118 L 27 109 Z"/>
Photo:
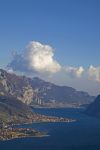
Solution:
<path fill-rule="evenodd" d="M 88 104 L 94 100 L 87 92 L 77 91 L 72 87 L 58 86 L 50 82 L 45 82 L 39 78 L 30 80 L 31 87 L 37 91 L 39 98 L 44 103 L 60 103 L 69 105 Z"/>

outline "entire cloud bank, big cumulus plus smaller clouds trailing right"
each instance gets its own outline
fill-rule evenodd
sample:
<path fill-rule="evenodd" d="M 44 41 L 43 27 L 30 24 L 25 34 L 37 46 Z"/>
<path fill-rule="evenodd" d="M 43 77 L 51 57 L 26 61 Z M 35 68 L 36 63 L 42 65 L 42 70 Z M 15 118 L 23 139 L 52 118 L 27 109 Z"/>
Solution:
<path fill-rule="evenodd" d="M 83 78 L 84 80 L 95 80 L 100 82 L 100 66 L 93 65 L 88 68 L 83 66 L 61 66 L 54 58 L 54 49 L 50 45 L 31 41 L 21 54 L 14 53 L 12 61 L 8 64 L 8 72 L 14 71 L 40 75 L 59 74 L 68 75 L 71 78 Z"/>

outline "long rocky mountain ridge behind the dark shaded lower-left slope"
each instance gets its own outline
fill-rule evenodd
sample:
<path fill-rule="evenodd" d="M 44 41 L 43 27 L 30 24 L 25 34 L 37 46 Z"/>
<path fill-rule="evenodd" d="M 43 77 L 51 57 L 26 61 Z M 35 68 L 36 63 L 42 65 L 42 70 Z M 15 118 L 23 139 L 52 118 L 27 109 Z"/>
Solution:
<path fill-rule="evenodd" d="M 79 106 L 94 100 L 87 92 L 72 87 L 58 86 L 40 78 L 10 74 L 0 69 L 0 95 L 13 96 L 27 105 L 41 107 Z"/>

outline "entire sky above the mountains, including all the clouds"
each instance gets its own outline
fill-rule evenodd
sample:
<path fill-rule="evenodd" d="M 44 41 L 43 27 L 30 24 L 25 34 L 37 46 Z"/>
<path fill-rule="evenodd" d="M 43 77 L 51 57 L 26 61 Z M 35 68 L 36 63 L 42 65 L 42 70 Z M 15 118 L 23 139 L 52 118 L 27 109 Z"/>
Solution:
<path fill-rule="evenodd" d="M 100 94 L 100 1 L 0 0 L 0 68 Z"/>

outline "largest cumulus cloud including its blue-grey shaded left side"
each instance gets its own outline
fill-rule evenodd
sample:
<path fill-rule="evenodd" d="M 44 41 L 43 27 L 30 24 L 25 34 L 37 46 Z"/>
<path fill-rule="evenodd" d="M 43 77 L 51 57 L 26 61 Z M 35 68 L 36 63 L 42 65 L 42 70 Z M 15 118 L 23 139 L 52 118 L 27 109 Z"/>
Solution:
<path fill-rule="evenodd" d="M 54 49 L 40 42 L 31 41 L 23 54 L 15 54 L 8 65 L 15 71 L 56 73 L 61 69 L 54 59 Z"/>

